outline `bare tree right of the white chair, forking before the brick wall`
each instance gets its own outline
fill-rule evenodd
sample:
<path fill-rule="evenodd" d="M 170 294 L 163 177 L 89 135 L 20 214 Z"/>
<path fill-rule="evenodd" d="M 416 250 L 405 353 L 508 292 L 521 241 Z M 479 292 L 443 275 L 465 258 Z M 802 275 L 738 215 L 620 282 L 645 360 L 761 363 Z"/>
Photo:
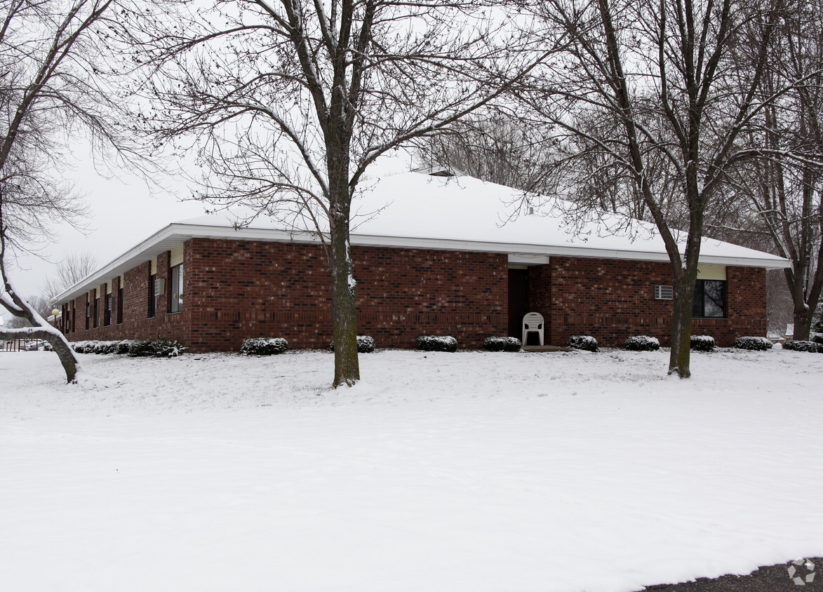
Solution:
<path fill-rule="evenodd" d="M 781 9 L 780 0 L 532 6 L 536 34 L 567 36 L 572 46 L 520 97 L 555 127 L 565 150 L 557 170 L 577 206 L 611 201 L 611 210 L 656 224 L 674 284 L 668 372 L 680 377 L 690 376 L 706 210 L 723 199 L 729 167 L 750 156 L 740 135 L 764 104 L 756 91 Z M 740 35 L 756 58 L 745 73 L 730 59 Z M 597 178 L 608 195 L 593 191 Z"/>

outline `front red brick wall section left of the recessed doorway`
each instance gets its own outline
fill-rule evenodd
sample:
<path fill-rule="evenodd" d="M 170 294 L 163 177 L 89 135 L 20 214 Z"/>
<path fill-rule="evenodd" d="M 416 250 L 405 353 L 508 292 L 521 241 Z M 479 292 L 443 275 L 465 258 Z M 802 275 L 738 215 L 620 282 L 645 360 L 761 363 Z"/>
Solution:
<path fill-rule="evenodd" d="M 194 351 L 237 351 L 249 337 L 293 348 L 332 340 L 332 296 L 322 247 L 190 241 L 188 303 Z M 423 333 L 480 347 L 505 331 L 505 255 L 354 247 L 360 335 L 379 347 L 413 347 Z M 184 304 L 184 308 L 186 304 Z"/>

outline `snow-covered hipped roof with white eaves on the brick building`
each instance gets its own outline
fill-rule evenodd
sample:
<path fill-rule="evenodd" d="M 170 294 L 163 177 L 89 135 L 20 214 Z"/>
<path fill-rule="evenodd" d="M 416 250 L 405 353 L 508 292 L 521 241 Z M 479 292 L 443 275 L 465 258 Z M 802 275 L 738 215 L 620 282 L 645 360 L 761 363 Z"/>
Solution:
<path fill-rule="evenodd" d="M 467 176 L 391 174 L 362 183 L 360 195 L 352 201 L 351 243 L 501 252 L 518 265 L 545 263 L 552 256 L 668 261 L 663 239 L 652 224 L 634 222 L 630 229 L 618 230 L 625 226 L 625 220 L 611 217 L 574 228 L 565 221 L 566 206 L 557 200 L 527 199 L 511 187 Z M 263 216 L 235 229 L 235 220 L 245 213 L 221 212 L 169 224 L 67 289 L 57 300 L 77 298 L 189 238 L 319 242 L 308 229 L 290 229 Z M 709 238 L 700 249 L 700 261 L 766 269 L 789 266 L 782 257 Z"/>

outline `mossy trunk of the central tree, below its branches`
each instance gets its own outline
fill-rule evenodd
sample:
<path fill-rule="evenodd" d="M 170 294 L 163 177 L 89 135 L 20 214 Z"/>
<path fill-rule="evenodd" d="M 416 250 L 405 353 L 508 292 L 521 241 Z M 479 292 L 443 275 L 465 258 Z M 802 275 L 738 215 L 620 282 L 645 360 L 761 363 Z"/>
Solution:
<path fill-rule="evenodd" d="M 332 228 L 328 245 L 328 268 L 332 276 L 332 386 L 353 386 L 360 380 L 360 360 L 357 358 L 356 285 L 347 223 L 337 224 Z"/>

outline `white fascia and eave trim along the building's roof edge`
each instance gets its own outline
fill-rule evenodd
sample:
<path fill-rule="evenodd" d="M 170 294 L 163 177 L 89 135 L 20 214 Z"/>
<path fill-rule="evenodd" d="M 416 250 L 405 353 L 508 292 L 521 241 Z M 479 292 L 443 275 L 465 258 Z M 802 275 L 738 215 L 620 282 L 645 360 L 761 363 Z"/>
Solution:
<path fill-rule="evenodd" d="M 156 257 L 161 252 L 185 243 L 189 238 L 217 238 L 226 240 L 260 240 L 277 243 L 321 243 L 317 233 L 290 232 L 280 229 L 244 228 L 234 229 L 229 226 L 212 226 L 210 224 L 169 224 L 151 237 L 138 243 L 123 255 L 88 275 L 71 288 L 59 294 L 55 303 L 63 303 L 85 294 L 104 281 L 120 275 L 143 261 Z M 625 261 L 665 261 L 665 252 L 623 251 L 619 249 L 599 249 L 569 245 L 536 245 L 518 243 L 486 243 L 483 241 L 453 240 L 448 238 L 394 237 L 375 234 L 351 234 L 351 244 L 359 247 L 394 247 L 434 249 L 440 251 L 497 252 L 509 255 L 509 261 L 548 262 L 548 257 L 586 257 L 596 259 L 618 259 Z M 511 257 L 515 257 L 513 260 Z M 543 259 L 545 257 L 545 259 Z M 762 267 L 765 269 L 784 269 L 791 267 L 791 262 L 779 257 L 700 257 L 700 262 L 710 265 Z"/>

